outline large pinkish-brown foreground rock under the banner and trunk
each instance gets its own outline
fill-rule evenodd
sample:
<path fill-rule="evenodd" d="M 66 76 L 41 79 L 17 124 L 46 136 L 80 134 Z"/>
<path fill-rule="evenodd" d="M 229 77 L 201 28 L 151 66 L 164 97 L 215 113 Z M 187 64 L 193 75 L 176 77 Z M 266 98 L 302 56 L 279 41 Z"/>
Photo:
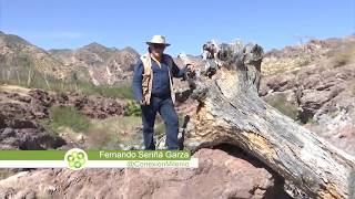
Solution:
<path fill-rule="evenodd" d="M 13 197 L 24 188 L 39 193 L 54 190 L 59 198 L 276 198 L 276 185 L 267 169 L 254 166 L 241 157 L 220 149 L 201 149 L 194 157 L 199 168 L 162 169 L 40 169 L 30 171 L 16 181 L 2 182 L 0 192 L 14 189 Z M 49 193 L 48 193 L 49 196 Z M 283 195 L 285 196 L 285 195 Z"/>

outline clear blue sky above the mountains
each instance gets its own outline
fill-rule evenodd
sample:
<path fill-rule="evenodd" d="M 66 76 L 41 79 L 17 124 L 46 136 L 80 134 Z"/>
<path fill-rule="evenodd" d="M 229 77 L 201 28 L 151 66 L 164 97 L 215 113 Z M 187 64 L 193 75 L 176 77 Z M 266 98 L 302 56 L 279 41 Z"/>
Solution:
<path fill-rule="evenodd" d="M 45 50 L 95 41 L 144 53 L 153 34 L 172 55 L 200 54 L 211 39 L 270 50 L 355 33 L 355 0 L 0 0 L 0 30 Z"/>

